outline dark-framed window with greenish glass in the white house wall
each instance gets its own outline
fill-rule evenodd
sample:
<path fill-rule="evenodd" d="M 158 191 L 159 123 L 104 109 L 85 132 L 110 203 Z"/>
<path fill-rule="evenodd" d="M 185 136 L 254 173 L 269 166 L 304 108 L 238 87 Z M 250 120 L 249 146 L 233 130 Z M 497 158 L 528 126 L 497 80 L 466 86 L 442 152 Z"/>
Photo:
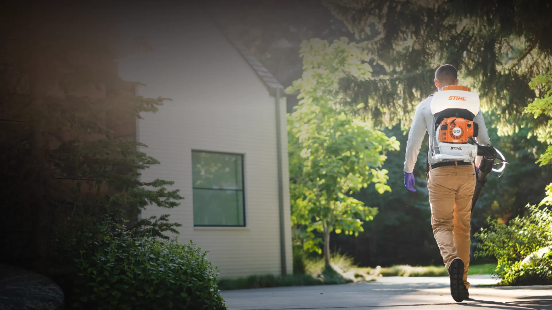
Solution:
<path fill-rule="evenodd" d="M 243 157 L 192 151 L 194 226 L 245 226 Z"/>

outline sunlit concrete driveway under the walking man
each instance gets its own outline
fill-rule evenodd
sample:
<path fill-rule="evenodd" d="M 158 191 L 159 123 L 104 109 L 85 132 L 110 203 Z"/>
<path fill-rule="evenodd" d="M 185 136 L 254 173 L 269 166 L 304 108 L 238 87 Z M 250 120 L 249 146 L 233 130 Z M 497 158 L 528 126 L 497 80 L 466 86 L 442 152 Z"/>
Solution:
<path fill-rule="evenodd" d="M 229 310 L 253 309 L 550 309 L 552 286 L 497 287 L 487 275 L 470 276 L 469 301 L 456 303 L 448 277 L 380 277 L 375 282 L 223 291 Z"/>

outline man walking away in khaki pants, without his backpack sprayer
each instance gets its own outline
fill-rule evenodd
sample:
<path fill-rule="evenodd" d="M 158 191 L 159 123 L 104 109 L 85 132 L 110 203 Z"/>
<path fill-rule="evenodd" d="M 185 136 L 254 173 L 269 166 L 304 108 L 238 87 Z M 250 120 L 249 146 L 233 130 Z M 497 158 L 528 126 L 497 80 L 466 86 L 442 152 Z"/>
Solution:
<path fill-rule="evenodd" d="M 452 65 L 440 66 L 435 72 L 435 86 L 439 91 L 449 85 L 458 85 L 458 72 Z M 431 112 L 430 95 L 418 104 L 406 145 L 405 186 L 416 191 L 413 169 L 426 132 L 429 132 L 426 180 L 431 206 L 433 234 L 450 277 L 450 293 L 455 301 L 469 298 L 468 269 L 470 265 L 470 211 L 476 182 L 473 162 L 442 161 L 430 164 L 434 149 L 436 120 Z M 461 103 L 459 103 L 461 105 Z M 461 109 L 462 106 L 458 106 Z M 481 110 L 473 122 L 479 125 L 477 143 L 490 145 L 489 134 Z M 479 162 L 479 161 L 476 161 Z"/>

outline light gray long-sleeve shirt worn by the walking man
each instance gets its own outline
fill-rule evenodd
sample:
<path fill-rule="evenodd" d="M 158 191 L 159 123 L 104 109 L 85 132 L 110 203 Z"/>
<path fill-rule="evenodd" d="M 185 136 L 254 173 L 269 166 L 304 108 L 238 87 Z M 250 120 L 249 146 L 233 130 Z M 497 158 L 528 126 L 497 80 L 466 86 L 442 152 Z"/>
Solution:
<path fill-rule="evenodd" d="M 426 132 L 429 134 L 429 146 L 427 152 L 428 162 L 431 159 L 431 150 L 433 149 L 433 130 L 435 128 L 435 121 L 433 119 L 433 114 L 431 114 L 431 99 L 432 96 L 429 96 L 427 99 L 423 100 L 418 104 L 416 112 L 414 113 L 414 119 L 412 121 L 412 126 L 410 127 L 410 132 L 408 132 L 408 142 L 406 142 L 406 158 L 405 158 L 405 172 L 412 173 L 414 170 L 414 165 L 416 164 L 416 159 L 420 153 L 420 147 L 422 146 L 423 138 L 426 136 Z M 489 139 L 489 133 L 487 132 L 487 127 L 485 126 L 485 121 L 483 120 L 483 115 L 481 110 L 474 118 L 474 122 L 479 125 L 479 135 L 476 137 L 476 141 L 481 145 L 490 145 L 491 140 Z"/>

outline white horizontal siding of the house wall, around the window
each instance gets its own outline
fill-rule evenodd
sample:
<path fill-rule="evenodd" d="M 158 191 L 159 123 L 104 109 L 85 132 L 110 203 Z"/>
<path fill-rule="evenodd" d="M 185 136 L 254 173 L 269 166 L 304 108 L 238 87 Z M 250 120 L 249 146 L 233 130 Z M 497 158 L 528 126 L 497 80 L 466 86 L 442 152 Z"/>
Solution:
<path fill-rule="evenodd" d="M 275 101 L 266 86 L 209 19 L 198 12 L 149 12 L 144 28 L 153 50 L 124 58 L 120 76 L 145 83 L 139 94 L 172 101 L 142 115 L 137 138 L 159 165 L 142 180 L 173 180 L 185 197 L 173 210 L 148 207 L 142 217 L 171 214 L 179 240 L 192 239 L 219 266 L 220 277 L 280 273 Z M 136 20 L 140 20 L 136 18 Z M 130 25 L 130 24 L 129 24 Z M 285 98 L 281 99 L 286 266 L 291 273 L 291 228 Z M 245 228 L 194 228 L 192 150 L 243 154 Z"/>

